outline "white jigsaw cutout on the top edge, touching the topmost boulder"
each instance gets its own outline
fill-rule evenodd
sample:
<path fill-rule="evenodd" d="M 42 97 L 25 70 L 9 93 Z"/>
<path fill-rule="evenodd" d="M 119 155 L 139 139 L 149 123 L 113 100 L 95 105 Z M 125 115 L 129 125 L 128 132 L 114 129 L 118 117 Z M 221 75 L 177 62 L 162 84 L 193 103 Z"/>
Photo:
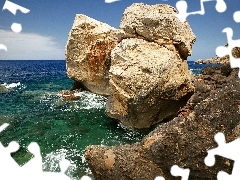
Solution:
<path fill-rule="evenodd" d="M 186 18 L 189 15 L 196 15 L 196 14 L 204 15 L 205 14 L 204 2 L 208 2 L 208 1 L 216 1 L 215 9 L 219 13 L 225 12 L 227 9 L 227 5 L 224 0 L 200 0 L 200 6 L 201 6 L 200 11 L 188 13 L 187 12 L 187 8 L 188 8 L 187 2 L 185 0 L 180 0 L 176 3 L 176 8 L 178 10 L 178 14 L 176 14 L 176 16 L 178 17 L 178 19 L 181 22 L 184 22 L 184 21 L 186 21 Z"/>

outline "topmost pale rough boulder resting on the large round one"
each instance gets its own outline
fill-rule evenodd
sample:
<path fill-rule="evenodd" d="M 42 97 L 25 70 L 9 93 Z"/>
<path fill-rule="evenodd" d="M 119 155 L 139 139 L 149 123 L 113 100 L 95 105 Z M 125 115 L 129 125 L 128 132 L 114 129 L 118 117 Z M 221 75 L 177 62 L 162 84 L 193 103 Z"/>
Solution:
<path fill-rule="evenodd" d="M 134 3 L 122 16 L 120 28 L 126 33 L 160 45 L 174 45 L 186 59 L 192 53 L 196 37 L 187 22 L 177 17 L 177 10 L 167 4 Z"/>

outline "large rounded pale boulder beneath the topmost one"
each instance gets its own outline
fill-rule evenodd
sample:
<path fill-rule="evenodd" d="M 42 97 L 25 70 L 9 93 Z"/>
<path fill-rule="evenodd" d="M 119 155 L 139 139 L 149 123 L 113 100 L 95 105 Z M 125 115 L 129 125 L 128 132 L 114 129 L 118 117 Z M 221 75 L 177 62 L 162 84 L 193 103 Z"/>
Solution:
<path fill-rule="evenodd" d="M 132 128 L 174 117 L 193 94 L 186 61 L 143 39 L 124 39 L 111 53 L 108 116 Z"/>

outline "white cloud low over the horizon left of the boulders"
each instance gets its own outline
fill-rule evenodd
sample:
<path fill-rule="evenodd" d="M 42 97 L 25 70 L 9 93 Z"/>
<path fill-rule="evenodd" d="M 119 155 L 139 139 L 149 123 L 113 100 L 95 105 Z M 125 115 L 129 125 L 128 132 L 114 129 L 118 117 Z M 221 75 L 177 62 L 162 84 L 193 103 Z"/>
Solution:
<path fill-rule="evenodd" d="M 7 51 L 0 50 L 0 60 L 64 59 L 64 48 L 51 36 L 0 30 L 0 44 L 7 47 Z"/>

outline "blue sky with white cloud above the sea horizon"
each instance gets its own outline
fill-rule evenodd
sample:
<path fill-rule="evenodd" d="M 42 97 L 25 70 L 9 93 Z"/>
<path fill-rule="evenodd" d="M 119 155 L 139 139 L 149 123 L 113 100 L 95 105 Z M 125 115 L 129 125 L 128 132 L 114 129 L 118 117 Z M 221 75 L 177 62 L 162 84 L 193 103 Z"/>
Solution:
<path fill-rule="evenodd" d="M 177 0 L 119 0 L 105 3 L 104 0 L 10 0 L 30 10 L 29 13 L 8 10 L 0 11 L 0 60 L 64 60 L 68 33 L 76 14 L 85 14 L 98 21 L 118 28 L 124 10 L 132 3 L 169 4 L 176 7 Z M 187 12 L 200 10 L 201 0 L 186 0 Z M 206 1 L 206 0 L 205 0 Z M 197 37 L 192 56 L 187 60 L 207 59 L 216 55 L 218 46 L 227 44 L 226 27 L 233 29 L 233 39 L 240 39 L 240 23 L 233 20 L 233 13 L 240 11 L 239 0 L 224 0 L 227 10 L 219 13 L 215 9 L 217 0 L 204 2 L 204 15 L 187 17 Z M 5 0 L 0 0 L 2 9 Z M 13 23 L 20 23 L 22 31 L 14 33 Z"/>

